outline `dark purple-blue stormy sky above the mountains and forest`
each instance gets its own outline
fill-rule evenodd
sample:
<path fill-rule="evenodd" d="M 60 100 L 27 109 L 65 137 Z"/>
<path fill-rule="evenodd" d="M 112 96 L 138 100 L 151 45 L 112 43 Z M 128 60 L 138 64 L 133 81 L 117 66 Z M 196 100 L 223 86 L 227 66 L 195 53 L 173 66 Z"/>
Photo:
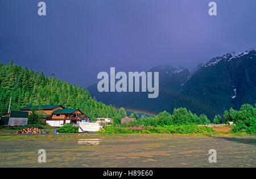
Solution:
<path fill-rule="evenodd" d="M 40 0 L 43 1 L 43 0 Z M 0 62 L 88 87 L 101 71 L 193 69 L 216 56 L 256 49 L 256 1 L 0 0 Z"/>

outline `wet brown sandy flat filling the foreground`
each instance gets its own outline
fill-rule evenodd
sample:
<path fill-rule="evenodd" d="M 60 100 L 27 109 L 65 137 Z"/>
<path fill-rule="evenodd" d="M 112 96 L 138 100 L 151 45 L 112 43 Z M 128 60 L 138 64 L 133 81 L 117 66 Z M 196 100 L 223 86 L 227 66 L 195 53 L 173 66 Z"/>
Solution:
<path fill-rule="evenodd" d="M 38 163 L 38 150 L 46 163 Z M 208 151 L 217 151 L 209 163 Z M 256 137 L 121 135 L 2 141 L 0 167 L 256 167 Z"/>

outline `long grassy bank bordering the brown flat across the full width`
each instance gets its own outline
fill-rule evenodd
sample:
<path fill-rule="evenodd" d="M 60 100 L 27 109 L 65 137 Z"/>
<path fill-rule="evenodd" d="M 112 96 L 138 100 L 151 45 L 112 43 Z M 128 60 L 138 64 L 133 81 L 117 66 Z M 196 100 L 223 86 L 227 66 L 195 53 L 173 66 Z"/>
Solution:
<path fill-rule="evenodd" d="M 255 136 L 256 134 L 247 134 L 245 132 L 232 132 L 230 126 L 219 127 L 206 127 L 206 126 L 159 126 L 159 127 L 120 127 L 120 126 L 108 126 L 104 130 L 98 131 L 94 134 L 54 134 L 54 130 L 59 129 L 57 127 L 46 126 L 44 129 L 49 130 L 48 135 L 15 135 L 10 134 L 11 131 L 19 130 L 19 127 L 0 129 L 5 133 L 0 133 L 0 141 L 13 141 L 13 140 L 79 140 L 90 138 L 116 138 L 116 137 L 143 137 L 145 135 L 164 136 L 207 136 L 207 137 L 236 137 L 236 136 Z"/>

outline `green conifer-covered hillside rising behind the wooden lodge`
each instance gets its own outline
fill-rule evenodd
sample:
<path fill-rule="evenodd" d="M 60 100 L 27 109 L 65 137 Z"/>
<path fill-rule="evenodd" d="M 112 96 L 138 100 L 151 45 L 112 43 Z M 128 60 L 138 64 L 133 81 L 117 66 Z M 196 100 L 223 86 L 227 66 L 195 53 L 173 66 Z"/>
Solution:
<path fill-rule="evenodd" d="M 0 114 L 7 113 L 12 96 L 12 110 L 26 105 L 59 104 L 65 108 L 79 108 L 91 119 L 117 115 L 114 106 L 97 102 L 84 88 L 52 76 L 35 73 L 27 67 L 23 69 L 13 62 L 7 65 L 0 63 Z"/>

